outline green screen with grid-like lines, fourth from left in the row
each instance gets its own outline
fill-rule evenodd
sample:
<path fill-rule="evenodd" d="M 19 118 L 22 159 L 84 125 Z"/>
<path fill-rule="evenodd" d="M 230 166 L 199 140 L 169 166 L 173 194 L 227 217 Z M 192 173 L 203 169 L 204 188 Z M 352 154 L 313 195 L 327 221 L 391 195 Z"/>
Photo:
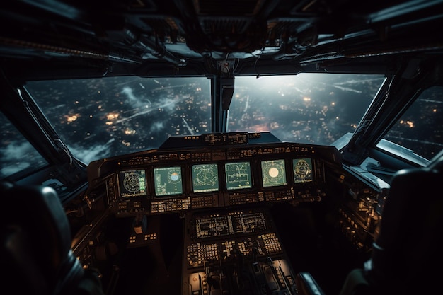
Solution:
<path fill-rule="evenodd" d="M 251 165 L 249 162 L 225 163 L 224 168 L 228 190 L 252 187 Z"/>

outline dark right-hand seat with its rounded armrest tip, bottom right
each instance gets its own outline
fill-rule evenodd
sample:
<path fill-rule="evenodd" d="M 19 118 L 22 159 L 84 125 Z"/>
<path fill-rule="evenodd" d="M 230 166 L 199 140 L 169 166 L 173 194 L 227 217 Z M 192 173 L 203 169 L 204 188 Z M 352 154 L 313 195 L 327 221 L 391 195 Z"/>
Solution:
<path fill-rule="evenodd" d="M 443 151 L 425 168 L 394 175 L 372 257 L 348 274 L 341 295 L 442 292 L 442 185 Z M 296 280 L 300 294 L 323 294 L 311 274 Z"/>

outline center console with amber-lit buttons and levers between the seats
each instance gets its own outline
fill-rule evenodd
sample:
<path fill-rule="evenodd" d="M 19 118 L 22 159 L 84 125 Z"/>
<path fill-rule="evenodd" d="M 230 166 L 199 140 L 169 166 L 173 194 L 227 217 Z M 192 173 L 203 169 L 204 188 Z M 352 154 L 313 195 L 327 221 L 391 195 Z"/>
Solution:
<path fill-rule="evenodd" d="M 266 209 L 187 214 L 183 294 L 297 294 Z"/>

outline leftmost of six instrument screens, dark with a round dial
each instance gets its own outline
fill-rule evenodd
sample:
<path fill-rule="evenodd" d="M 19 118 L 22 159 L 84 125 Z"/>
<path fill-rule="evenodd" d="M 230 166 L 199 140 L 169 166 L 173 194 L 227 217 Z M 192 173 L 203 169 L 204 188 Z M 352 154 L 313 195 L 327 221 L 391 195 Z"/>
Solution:
<path fill-rule="evenodd" d="M 135 197 L 146 195 L 146 171 L 145 170 L 127 170 L 120 171 L 120 196 Z"/>

